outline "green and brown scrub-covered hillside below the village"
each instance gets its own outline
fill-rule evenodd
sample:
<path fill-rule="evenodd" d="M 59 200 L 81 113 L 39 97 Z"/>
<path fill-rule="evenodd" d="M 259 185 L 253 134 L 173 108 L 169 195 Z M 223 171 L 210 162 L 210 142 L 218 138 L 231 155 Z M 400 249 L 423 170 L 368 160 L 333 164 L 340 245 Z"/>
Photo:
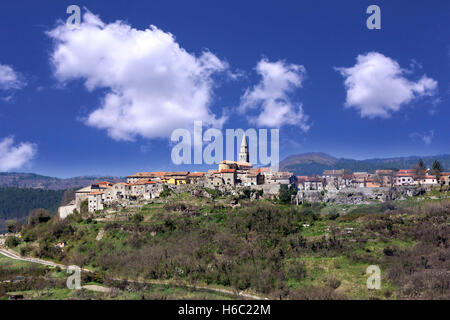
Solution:
<path fill-rule="evenodd" d="M 186 192 L 114 214 L 52 218 L 25 226 L 15 250 L 94 270 L 108 287 L 120 278 L 273 299 L 449 298 L 448 199 L 295 207 L 230 200 Z M 380 290 L 366 286 L 369 265 L 381 269 Z"/>

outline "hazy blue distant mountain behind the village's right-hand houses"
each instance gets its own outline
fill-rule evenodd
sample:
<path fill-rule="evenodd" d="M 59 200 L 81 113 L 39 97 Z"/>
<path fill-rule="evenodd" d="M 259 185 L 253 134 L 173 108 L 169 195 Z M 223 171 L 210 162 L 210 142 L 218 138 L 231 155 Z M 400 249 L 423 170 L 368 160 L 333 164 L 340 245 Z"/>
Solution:
<path fill-rule="evenodd" d="M 339 159 L 322 152 L 290 155 L 280 162 L 280 168 L 292 171 L 296 175 L 322 174 L 324 170 L 331 169 L 348 169 L 353 172 L 373 172 L 378 169 L 409 169 L 415 165 L 419 159 L 422 159 L 425 166 L 429 168 L 433 165 L 434 160 L 438 160 L 444 170 L 450 170 L 450 155 L 355 160 L 345 158 Z"/>

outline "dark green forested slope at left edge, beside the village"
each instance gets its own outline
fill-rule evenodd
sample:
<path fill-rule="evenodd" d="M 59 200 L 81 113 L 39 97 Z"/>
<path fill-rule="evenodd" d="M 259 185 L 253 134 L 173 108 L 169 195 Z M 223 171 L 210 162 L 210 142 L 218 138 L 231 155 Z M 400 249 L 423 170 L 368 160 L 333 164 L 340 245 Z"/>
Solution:
<path fill-rule="evenodd" d="M 25 219 L 33 209 L 44 208 L 54 213 L 64 190 L 44 190 L 0 187 L 0 232 L 5 231 L 8 219 Z"/>

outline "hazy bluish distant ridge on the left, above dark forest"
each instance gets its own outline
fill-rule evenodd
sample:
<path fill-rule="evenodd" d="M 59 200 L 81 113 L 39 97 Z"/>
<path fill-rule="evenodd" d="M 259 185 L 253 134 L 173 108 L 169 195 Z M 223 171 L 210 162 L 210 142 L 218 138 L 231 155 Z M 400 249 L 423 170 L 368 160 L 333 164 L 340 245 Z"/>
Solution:
<path fill-rule="evenodd" d="M 81 188 L 98 181 L 121 181 L 118 177 L 75 177 L 60 179 L 35 173 L 0 172 L 0 187 L 65 190 Z"/>

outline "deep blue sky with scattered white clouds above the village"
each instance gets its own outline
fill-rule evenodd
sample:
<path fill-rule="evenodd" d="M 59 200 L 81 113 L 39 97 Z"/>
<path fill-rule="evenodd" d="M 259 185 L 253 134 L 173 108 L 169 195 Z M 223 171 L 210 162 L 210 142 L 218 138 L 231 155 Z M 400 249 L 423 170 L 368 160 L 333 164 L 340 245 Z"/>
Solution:
<path fill-rule="evenodd" d="M 447 154 L 449 17 L 444 0 L 2 1 L 0 171 L 204 170 L 170 158 L 192 119 L 279 128 L 281 159 Z"/>

